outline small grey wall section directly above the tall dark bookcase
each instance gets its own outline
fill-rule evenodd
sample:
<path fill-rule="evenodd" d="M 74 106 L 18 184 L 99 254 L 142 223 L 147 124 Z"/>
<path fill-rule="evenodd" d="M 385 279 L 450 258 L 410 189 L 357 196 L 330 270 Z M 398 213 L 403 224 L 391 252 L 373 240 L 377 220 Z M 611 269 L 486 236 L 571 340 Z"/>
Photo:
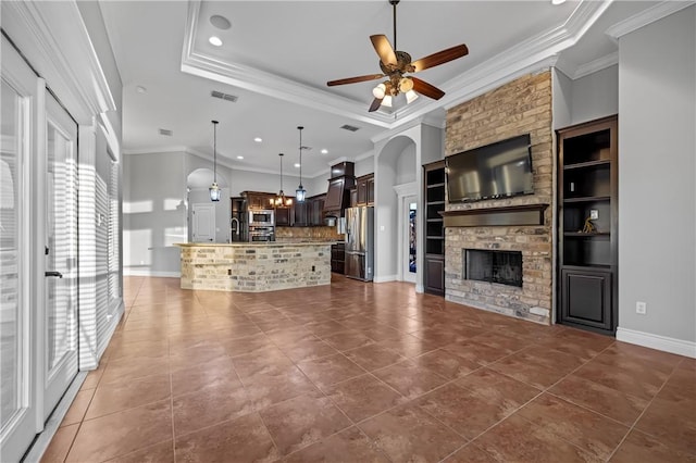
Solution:
<path fill-rule="evenodd" d="M 573 80 L 572 125 L 619 112 L 619 65 Z"/>

